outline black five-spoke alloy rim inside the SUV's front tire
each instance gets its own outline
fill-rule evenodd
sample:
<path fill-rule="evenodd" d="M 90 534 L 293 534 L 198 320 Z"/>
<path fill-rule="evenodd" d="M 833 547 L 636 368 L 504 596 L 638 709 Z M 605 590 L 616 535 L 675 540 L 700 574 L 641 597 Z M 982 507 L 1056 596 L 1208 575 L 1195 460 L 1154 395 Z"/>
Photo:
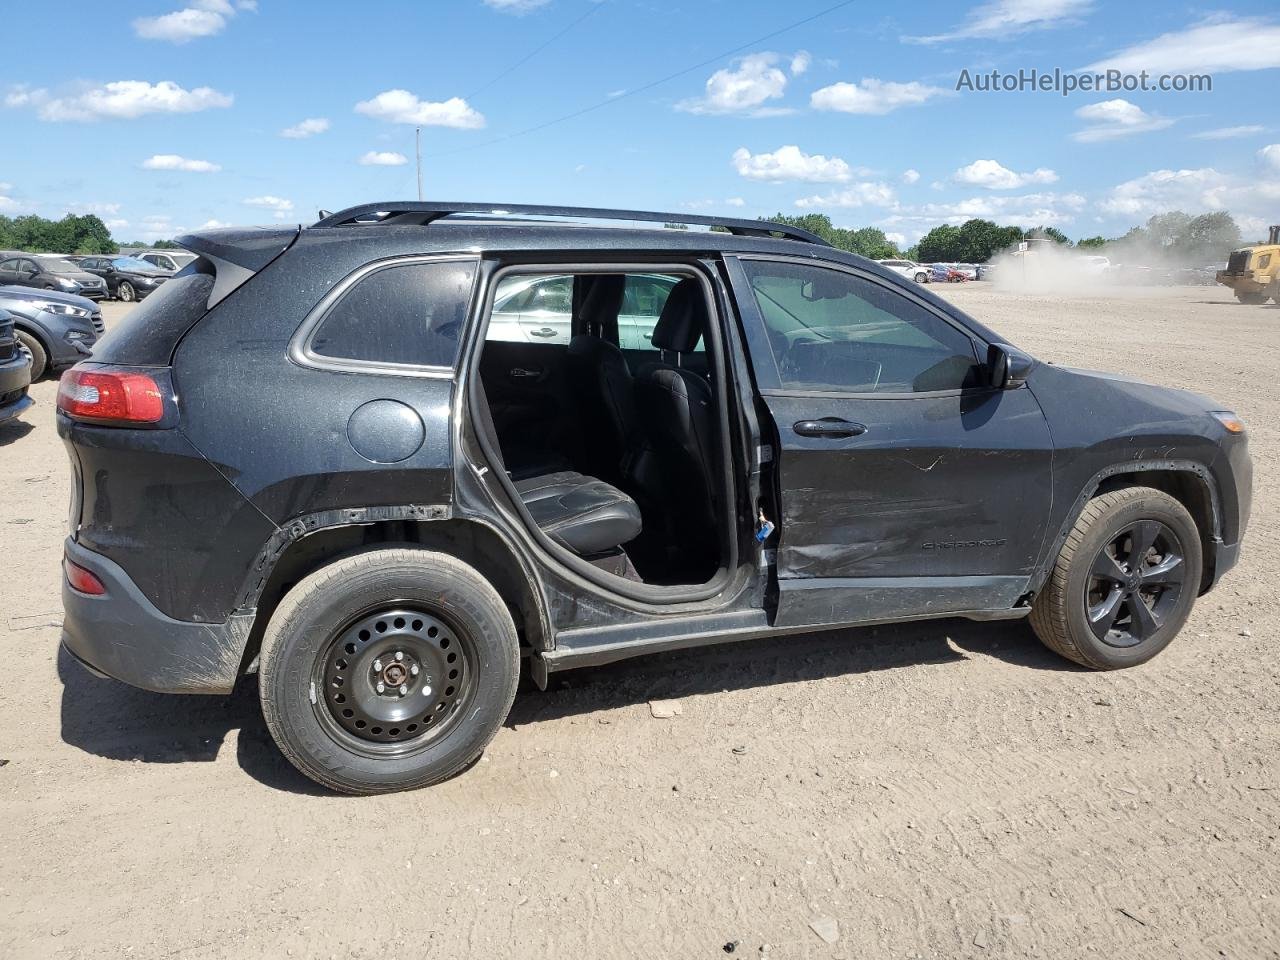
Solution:
<path fill-rule="evenodd" d="M 1094 558 L 1085 585 L 1093 635 L 1108 646 L 1137 646 L 1178 607 L 1185 552 L 1169 526 L 1139 520 L 1124 527 Z"/>

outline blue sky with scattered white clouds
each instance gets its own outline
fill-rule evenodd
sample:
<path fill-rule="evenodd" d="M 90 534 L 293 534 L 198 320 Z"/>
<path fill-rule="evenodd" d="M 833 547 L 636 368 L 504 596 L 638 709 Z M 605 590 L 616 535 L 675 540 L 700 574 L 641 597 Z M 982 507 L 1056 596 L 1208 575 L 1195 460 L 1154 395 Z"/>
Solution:
<path fill-rule="evenodd" d="M 969 216 L 1280 223 L 1274 3 L 856 0 L 778 32 L 835 4 L 64 1 L 6 45 L 0 212 L 120 239 L 308 223 L 412 198 L 421 125 L 428 198 L 815 211 L 904 243 Z M 955 90 L 1033 68 L 1212 91 Z"/>

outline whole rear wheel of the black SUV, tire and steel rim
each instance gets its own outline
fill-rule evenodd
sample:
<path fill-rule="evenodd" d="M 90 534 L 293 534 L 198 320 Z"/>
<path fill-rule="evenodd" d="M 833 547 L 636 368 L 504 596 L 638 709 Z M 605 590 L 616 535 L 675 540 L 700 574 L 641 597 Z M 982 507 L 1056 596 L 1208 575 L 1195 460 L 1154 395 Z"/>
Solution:
<path fill-rule="evenodd" d="M 302 580 L 259 660 L 262 716 L 302 773 L 344 794 L 448 780 L 498 732 L 520 645 L 475 568 L 428 550 L 374 549 Z"/>

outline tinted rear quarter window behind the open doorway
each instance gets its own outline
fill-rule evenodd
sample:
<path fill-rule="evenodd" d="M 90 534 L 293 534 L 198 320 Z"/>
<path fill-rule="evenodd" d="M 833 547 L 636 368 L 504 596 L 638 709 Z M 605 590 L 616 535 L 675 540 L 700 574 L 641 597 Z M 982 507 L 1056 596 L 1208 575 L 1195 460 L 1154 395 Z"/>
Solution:
<path fill-rule="evenodd" d="M 453 366 L 475 275 L 474 260 L 379 268 L 328 308 L 308 351 L 324 360 Z"/>

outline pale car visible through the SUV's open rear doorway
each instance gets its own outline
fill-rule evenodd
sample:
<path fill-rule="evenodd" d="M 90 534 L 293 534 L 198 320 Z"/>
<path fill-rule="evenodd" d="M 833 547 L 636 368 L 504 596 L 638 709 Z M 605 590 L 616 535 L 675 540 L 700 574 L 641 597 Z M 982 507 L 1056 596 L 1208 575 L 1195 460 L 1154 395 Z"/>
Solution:
<path fill-rule="evenodd" d="M 627 274 L 618 312 L 618 346 L 653 349 L 649 338 L 676 276 Z M 490 340 L 567 344 L 572 337 L 573 278 L 508 276 L 494 294 Z"/>

